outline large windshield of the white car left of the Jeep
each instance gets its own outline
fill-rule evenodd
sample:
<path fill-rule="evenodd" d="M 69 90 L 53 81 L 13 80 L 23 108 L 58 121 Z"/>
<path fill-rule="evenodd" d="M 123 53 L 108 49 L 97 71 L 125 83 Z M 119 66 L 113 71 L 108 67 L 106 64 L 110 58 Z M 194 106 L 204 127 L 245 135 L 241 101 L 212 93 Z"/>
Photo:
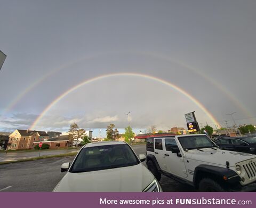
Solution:
<path fill-rule="evenodd" d="M 72 173 L 99 171 L 139 164 L 128 145 L 105 145 L 83 148 L 77 156 Z"/>

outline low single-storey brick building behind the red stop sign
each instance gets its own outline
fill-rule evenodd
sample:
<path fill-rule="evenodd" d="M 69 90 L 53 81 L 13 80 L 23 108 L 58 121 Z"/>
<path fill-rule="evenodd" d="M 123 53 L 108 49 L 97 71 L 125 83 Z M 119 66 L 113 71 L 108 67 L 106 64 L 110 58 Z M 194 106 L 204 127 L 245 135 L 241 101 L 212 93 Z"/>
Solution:
<path fill-rule="evenodd" d="M 33 146 L 39 144 L 40 141 L 35 141 Z M 42 143 L 49 145 L 49 149 L 59 149 L 59 148 L 67 148 L 71 147 L 71 141 L 69 141 L 68 135 L 61 135 L 59 137 L 48 139 L 47 141 L 42 141 Z"/>

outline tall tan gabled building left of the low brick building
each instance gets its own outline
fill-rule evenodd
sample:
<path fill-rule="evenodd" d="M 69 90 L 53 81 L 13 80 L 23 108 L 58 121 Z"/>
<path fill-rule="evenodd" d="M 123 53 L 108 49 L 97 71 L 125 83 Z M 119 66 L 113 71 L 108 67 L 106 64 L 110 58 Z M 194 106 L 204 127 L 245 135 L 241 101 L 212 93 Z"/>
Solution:
<path fill-rule="evenodd" d="M 49 139 L 45 131 L 31 131 L 17 129 L 9 135 L 10 150 L 31 149 L 35 141 L 46 141 Z"/>

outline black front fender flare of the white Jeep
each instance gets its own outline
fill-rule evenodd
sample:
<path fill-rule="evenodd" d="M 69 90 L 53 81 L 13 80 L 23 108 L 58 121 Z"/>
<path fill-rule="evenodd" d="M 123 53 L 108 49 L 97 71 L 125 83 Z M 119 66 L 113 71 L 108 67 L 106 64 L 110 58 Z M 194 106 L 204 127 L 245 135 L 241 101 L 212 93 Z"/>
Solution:
<path fill-rule="evenodd" d="M 198 185 L 198 182 L 205 178 L 205 175 L 211 175 L 216 177 L 217 180 L 221 182 L 227 182 L 229 184 L 234 184 L 239 182 L 241 178 L 239 175 L 230 169 L 225 167 L 218 167 L 213 165 L 198 165 L 194 171 L 193 184 L 194 186 Z"/>

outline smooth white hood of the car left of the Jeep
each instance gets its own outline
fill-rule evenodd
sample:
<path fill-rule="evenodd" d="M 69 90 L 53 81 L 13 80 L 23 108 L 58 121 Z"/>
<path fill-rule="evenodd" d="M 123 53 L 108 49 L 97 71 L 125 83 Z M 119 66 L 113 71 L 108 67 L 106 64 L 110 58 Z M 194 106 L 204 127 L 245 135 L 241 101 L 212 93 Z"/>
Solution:
<path fill-rule="evenodd" d="M 154 175 L 141 163 L 129 167 L 91 171 L 68 172 L 53 191 L 61 192 L 140 192 L 154 180 Z"/>

